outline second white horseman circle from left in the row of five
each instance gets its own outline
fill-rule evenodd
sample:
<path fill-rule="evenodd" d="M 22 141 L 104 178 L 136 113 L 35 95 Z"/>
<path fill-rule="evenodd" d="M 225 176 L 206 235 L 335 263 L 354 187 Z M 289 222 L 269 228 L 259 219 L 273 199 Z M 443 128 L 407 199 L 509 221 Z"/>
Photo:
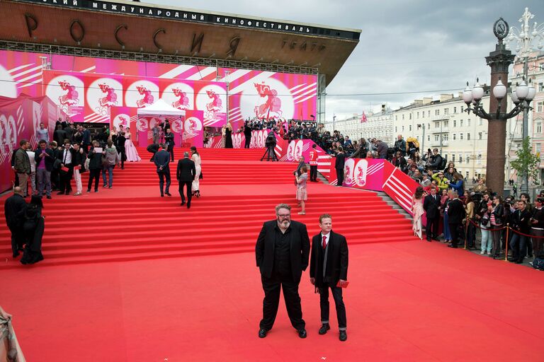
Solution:
<path fill-rule="evenodd" d="M 97 115 L 110 115 L 112 106 L 122 106 L 123 85 L 111 78 L 100 78 L 87 89 L 87 104 Z"/>

